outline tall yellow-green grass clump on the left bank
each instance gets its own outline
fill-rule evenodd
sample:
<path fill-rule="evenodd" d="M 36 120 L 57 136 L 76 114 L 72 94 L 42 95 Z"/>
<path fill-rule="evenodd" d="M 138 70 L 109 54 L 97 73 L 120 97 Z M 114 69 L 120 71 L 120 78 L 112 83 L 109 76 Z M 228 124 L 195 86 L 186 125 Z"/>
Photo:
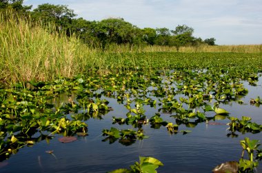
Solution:
<path fill-rule="evenodd" d="M 97 56 L 75 36 L 57 34 L 51 25 L 32 24 L 12 12 L 0 14 L 2 82 L 70 78 L 94 63 Z"/>

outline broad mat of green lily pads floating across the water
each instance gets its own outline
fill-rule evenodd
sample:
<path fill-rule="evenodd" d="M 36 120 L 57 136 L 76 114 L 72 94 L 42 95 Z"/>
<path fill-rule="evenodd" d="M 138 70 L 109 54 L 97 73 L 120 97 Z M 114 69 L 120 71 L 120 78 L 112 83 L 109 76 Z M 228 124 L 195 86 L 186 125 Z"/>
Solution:
<path fill-rule="evenodd" d="M 108 119 L 110 111 L 113 125 L 101 129 L 103 137 L 99 137 L 123 146 L 148 138 L 148 127 L 163 129 L 165 135 L 185 135 L 199 124 L 228 123 L 228 137 L 261 132 L 260 124 L 249 117 L 231 117 L 225 107 L 244 104 L 248 94 L 244 82 L 258 82 L 262 61 L 257 54 L 101 53 L 104 56 L 108 56 L 102 58 L 106 67 L 94 63 L 92 69 L 73 78 L 1 87 L 1 160 L 39 141 L 85 137 L 88 121 Z M 122 64 L 117 66 L 117 60 Z M 122 106 L 121 115 L 113 114 L 119 107 L 112 102 Z M 260 97 L 250 104 L 259 106 Z M 261 150 L 254 152 L 261 159 Z M 243 160 L 241 169 L 247 170 L 248 162 Z"/>

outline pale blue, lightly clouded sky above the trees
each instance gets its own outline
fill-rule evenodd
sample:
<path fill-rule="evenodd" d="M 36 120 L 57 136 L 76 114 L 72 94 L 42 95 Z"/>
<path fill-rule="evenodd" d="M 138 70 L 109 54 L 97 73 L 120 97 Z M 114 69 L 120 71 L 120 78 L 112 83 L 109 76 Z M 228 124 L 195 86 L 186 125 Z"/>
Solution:
<path fill-rule="evenodd" d="M 68 5 L 77 17 L 101 21 L 121 17 L 137 27 L 188 25 L 194 36 L 217 45 L 262 44 L 261 0 L 24 0 L 24 5 Z"/>

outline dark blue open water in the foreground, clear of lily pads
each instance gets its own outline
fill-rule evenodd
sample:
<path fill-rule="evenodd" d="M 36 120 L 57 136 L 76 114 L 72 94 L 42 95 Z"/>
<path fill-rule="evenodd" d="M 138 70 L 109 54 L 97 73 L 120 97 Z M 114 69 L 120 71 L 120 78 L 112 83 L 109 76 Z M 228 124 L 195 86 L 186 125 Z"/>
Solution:
<path fill-rule="evenodd" d="M 243 98 L 247 104 L 240 105 L 235 102 L 221 105 L 230 112 L 230 116 L 252 117 L 252 122 L 262 124 L 262 107 L 251 106 L 250 98 L 262 96 L 261 79 L 259 86 L 248 87 L 249 93 Z M 59 136 L 47 141 L 35 143 L 32 147 L 21 148 L 17 154 L 0 165 L 0 172 L 107 172 L 117 168 L 128 168 L 139 161 L 139 156 L 155 157 L 163 162 L 164 166 L 158 172 L 211 172 L 220 163 L 226 161 L 239 161 L 242 148 L 239 143 L 245 137 L 262 141 L 262 133 L 239 137 L 227 137 L 227 125 L 198 124 L 195 128 L 179 126 L 179 130 L 192 130 L 187 135 L 181 133 L 170 135 L 165 127 L 160 129 L 144 125 L 143 130 L 149 139 L 136 141 L 131 146 L 123 146 L 118 141 L 109 144 L 101 132 L 104 128 L 116 127 L 119 129 L 132 128 L 132 126 L 119 126 L 112 124 L 112 116 L 125 117 L 127 110 L 115 100 L 108 99 L 114 111 L 110 111 L 99 119 L 88 120 L 88 136 L 78 137 L 72 143 L 60 143 Z M 212 103 L 211 103 L 212 104 Z M 157 112 L 145 106 L 148 118 Z M 161 115 L 163 119 L 174 122 L 170 115 Z M 228 119 L 219 121 L 228 123 Z M 134 129 L 134 128 L 132 128 Z M 134 129 L 137 130 L 137 129 Z M 54 155 L 46 153 L 54 150 Z M 257 172 L 262 172 L 262 163 Z"/>

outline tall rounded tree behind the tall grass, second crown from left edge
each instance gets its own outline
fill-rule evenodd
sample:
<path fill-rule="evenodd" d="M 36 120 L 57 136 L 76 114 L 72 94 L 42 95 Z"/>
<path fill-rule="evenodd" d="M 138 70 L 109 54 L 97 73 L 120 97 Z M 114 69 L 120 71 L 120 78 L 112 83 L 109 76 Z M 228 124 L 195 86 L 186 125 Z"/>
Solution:
<path fill-rule="evenodd" d="M 44 23 L 54 23 L 57 30 L 66 30 L 69 35 L 72 20 L 77 14 L 74 14 L 74 10 L 69 9 L 67 5 L 43 3 L 33 10 L 32 16 Z"/>

